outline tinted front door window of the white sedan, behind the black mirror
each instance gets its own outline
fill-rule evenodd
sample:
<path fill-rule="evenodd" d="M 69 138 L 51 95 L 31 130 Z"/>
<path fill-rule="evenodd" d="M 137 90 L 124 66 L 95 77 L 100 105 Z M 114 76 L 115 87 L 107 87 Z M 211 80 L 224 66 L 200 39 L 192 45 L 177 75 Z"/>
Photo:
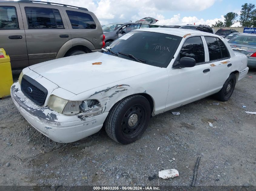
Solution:
<path fill-rule="evenodd" d="M 196 63 L 204 62 L 204 45 L 201 37 L 188 38 L 181 48 L 180 58 L 191 57 Z"/>

